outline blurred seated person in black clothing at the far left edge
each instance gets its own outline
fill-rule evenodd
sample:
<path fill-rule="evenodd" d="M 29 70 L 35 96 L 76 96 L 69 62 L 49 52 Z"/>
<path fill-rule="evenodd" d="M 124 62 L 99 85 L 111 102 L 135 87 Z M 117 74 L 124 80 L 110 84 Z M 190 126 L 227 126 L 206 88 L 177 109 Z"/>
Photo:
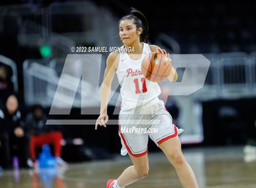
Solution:
<path fill-rule="evenodd" d="M 20 166 L 26 167 L 29 139 L 24 135 L 21 112 L 18 110 L 18 99 L 15 95 L 8 96 L 5 109 L 0 110 L 0 163 L 10 167 L 12 157 L 18 156 Z"/>

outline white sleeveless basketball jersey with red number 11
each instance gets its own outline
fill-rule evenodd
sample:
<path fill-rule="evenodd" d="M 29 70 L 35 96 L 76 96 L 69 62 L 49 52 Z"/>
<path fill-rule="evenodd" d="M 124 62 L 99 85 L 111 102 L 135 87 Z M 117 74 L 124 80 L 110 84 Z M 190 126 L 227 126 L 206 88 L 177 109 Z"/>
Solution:
<path fill-rule="evenodd" d="M 161 93 L 158 84 L 148 81 L 141 72 L 141 62 L 147 54 L 151 53 L 149 45 L 144 42 L 143 44 L 143 52 L 138 60 L 131 59 L 127 53 L 119 53 L 116 75 L 121 85 L 121 110 L 142 106 Z"/>

